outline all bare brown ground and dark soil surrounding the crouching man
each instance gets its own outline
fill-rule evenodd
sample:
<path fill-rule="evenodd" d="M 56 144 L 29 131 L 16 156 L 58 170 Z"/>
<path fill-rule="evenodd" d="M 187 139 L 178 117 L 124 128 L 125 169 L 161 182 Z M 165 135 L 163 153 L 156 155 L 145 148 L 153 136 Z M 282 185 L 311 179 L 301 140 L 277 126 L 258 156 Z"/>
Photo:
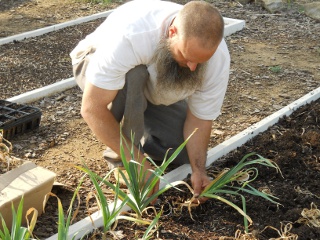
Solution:
<path fill-rule="evenodd" d="M 320 86 L 320 23 L 305 16 L 298 5 L 307 1 L 297 1 L 274 14 L 254 3 L 211 2 L 225 17 L 246 21 L 245 29 L 226 38 L 232 58 L 230 82 L 222 115 L 213 121 L 210 147 L 214 147 Z M 2 0 L 0 37 L 105 11 L 117 4 Z M 72 77 L 68 54 L 101 21 L 0 46 L 1 98 Z M 55 187 L 53 191 L 66 208 L 81 176 L 74 165 L 84 160 L 100 174 L 108 171 L 102 159 L 105 146 L 96 140 L 81 118 L 80 103 L 81 91 L 77 87 L 31 103 L 42 110 L 40 127 L 10 139 L 13 155 L 57 173 L 57 181 L 65 187 Z M 299 239 L 320 239 L 319 228 L 296 223 L 302 209 L 310 209 L 311 202 L 320 206 L 319 102 L 309 107 L 282 120 L 283 125 L 273 127 L 212 166 L 214 171 L 233 166 L 249 152 L 257 152 L 279 164 L 284 178 L 272 170 L 261 169 L 257 186 L 267 186 L 282 205 L 277 207 L 248 197 L 248 214 L 254 221 L 251 230 L 258 239 L 279 237 L 274 230 L 261 231 L 266 226 L 280 229 L 281 222 L 292 222 L 290 231 L 298 234 Z M 212 168 L 208 170 L 210 174 Z M 83 195 L 91 189 L 92 185 L 86 181 Z M 168 206 L 188 197 L 190 195 L 170 191 L 161 200 Z M 239 203 L 238 199 L 235 201 Z M 56 232 L 56 209 L 56 200 L 50 198 L 35 230 L 40 239 Z M 216 201 L 210 200 L 193 210 L 196 222 L 190 219 L 187 209 L 181 212 L 176 206 L 173 209 L 173 213 L 160 220 L 159 239 L 219 239 L 222 236 L 234 239 L 236 230 L 243 230 L 242 217 Z M 77 220 L 84 214 L 87 210 L 83 203 Z M 124 231 L 124 239 L 141 234 L 137 226 L 120 223 L 118 227 Z"/>

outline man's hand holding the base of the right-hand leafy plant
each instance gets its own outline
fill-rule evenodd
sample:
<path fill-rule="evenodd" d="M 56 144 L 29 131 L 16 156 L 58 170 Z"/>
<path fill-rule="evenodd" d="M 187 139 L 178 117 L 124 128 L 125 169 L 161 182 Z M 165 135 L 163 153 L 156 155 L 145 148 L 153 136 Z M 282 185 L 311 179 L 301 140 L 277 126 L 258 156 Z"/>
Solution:
<path fill-rule="evenodd" d="M 191 184 L 193 187 L 193 197 L 198 198 L 205 187 L 210 183 L 210 178 L 207 176 L 206 172 L 196 171 L 191 175 Z M 208 198 L 199 198 L 200 203 L 204 203 Z"/>

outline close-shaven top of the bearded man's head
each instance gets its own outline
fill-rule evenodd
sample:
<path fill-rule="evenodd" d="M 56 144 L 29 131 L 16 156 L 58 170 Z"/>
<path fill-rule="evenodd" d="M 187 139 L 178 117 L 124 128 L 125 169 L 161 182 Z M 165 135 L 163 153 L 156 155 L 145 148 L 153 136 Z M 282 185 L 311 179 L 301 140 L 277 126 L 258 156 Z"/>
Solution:
<path fill-rule="evenodd" d="M 197 38 L 203 48 L 215 47 L 223 38 L 223 18 L 217 8 L 205 1 L 185 4 L 174 24 L 182 39 Z"/>

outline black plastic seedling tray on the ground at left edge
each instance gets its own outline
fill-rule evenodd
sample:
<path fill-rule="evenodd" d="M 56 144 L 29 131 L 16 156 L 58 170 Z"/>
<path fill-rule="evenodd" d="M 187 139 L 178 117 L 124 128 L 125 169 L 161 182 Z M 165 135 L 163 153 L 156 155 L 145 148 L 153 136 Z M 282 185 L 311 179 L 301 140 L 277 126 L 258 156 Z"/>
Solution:
<path fill-rule="evenodd" d="M 0 100 L 0 129 L 5 139 L 38 128 L 40 120 L 39 108 Z"/>

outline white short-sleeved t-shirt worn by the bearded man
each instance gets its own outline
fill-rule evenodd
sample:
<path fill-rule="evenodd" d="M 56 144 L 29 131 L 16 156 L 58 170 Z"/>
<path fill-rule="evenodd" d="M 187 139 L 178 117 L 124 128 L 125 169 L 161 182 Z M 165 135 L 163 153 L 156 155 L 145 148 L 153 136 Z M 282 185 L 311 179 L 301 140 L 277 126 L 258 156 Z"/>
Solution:
<path fill-rule="evenodd" d="M 109 90 L 122 89 L 126 73 L 135 66 L 148 67 L 150 81 L 144 90 L 153 104 L 170 105 L 187 99 L 196 117 L 212 120 L 219 116 L 227 89 L 230 56 L 224 40 L 208 61 L 201 89 L 194 92 L 168 92 L 157 98 L 154 91 L 157 77 L 151 59 L 161 38 L 182 5 L 159 0 L 135 0 L 123 4 L 71 52 L 72 64 L 81 61 L 87 49 L 96 51 L 90 58 L 86 79 L 93 85 Z"/>

